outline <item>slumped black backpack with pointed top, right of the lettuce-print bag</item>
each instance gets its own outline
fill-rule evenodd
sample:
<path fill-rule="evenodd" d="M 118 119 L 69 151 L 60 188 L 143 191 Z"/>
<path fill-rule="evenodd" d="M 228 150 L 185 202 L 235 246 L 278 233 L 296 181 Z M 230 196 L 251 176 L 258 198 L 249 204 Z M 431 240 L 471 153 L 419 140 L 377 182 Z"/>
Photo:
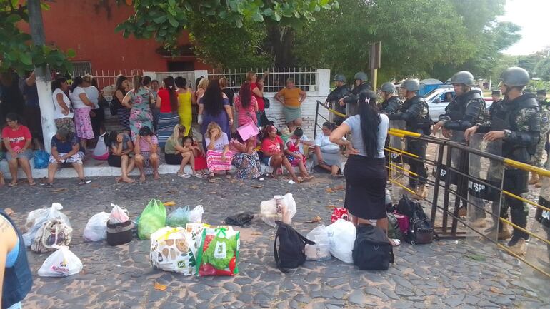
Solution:
<path fill-rule="evenodd" d="M 315 243 L 300 233 L 294 228 L 281 221 L 277 223 L 277 233 L 273 243 L 273 255 L 277 268 L 283 273 L 288 272 L 285 268 L 297 268 L 306 261 L 306 253 L 304 252 L 306 244 L 315 245 Z M 279 249 L 277 249 L 277 239 L 279 239 Z"/>

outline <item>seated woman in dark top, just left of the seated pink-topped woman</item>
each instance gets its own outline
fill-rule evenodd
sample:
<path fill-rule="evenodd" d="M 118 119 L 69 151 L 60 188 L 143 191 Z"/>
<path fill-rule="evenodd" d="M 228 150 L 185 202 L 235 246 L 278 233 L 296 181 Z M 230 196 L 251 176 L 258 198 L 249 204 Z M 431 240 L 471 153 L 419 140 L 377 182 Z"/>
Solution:
<path fill-rule="evenodd" d="M 107 163 L 114 168 L 121 168 L 121 176 L 116 177 L 116 182 L 134 183 L 134 179 L 129 178 L 128 174 L 134 170 L 136 161 L 134 159 L 134 143 L 126 133 L 111 131 L 107 139 L 109 146 L 109 158 Z"/>

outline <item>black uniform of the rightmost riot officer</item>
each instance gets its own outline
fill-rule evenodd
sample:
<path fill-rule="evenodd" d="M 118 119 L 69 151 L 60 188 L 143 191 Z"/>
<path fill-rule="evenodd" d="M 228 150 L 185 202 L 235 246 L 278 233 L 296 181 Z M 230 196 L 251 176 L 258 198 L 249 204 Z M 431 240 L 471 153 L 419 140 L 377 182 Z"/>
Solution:
<path fill-rule="evenodd" d="M 477 133 L 489 131 L 503 131 L 502 156 L 522 163 L 528 163 L 534 155 L 540 135 L 540 108 L 533 94 L 526 94 L 509 100 L 504 98 L 502 103 L 496 104 L 491 111 L 491 121 L 479 126 Z M 506 168 L 504 171 L 504 190 L 521 196 L 529 191 L 529 173 L 516 168 Z M 525 228 L 529 208 L 522 201 L 510 196 L 504 196 L 504 205 L 501 217 L 508 218 L 508 208 L 512 223 Z M 529 235 L 514 228 L 514 233 L 527 239 Z"/>

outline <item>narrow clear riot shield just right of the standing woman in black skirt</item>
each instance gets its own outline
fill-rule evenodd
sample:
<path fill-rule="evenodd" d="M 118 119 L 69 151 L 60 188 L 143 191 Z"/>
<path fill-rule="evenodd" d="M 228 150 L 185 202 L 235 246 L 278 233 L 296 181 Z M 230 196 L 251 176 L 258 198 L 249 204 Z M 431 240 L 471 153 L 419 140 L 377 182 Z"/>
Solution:
<path fill-rule="evenodd" d="M 389 127 L 404 130 L 405 121 L 390 120 Z M 399 153 L 399 151 L 404 151 L 406 149 L 405 142 L 404 138 L 401 138 L 399 136 L 393 136 L 391 134 L 389 134 L 388 136 L 389 151 L 387 151 L 386 153 L 388 153 L 389 155 L 389 160 L 387 162 L 390 167 L 389 179 L 391 181 L 391 201 L 399 201 L 403 194 L 408 194 L 408 192 L 406 192 L 406 190 L 403 188 L 403 186 L 406 186 L 406 183 L 408 183 L 408 176 L 406 176 L 407 173 L 403 170 L 404 156 L 401 156 L 401 153 Z"/>

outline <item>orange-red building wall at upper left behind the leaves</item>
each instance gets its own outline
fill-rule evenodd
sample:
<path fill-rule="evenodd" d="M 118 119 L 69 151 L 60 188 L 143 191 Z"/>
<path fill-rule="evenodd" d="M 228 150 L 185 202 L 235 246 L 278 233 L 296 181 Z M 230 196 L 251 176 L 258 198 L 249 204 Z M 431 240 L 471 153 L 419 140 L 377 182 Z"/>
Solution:
<path fill-rule="evenodd" d="M 194 69 L 209 69 L 194 56 L 164 57 L 156 53 L 160 46 L 154 39 L 139 40 L 130 36 L 124 39 L 121 32 L 114 31 L 117 24 L 133 12 L 131 6 L 106 1 L 111 6 L 111 19 L 106 9 L 94 6 L 99 0 L 61 0 L 46 2 L 50 9 L 42 11 L 46 43 L 61 49 L 74 49 L 76 57 L 71 61 L 91 61 L 92 71 L 107 69 L 142 69 L 144 71 L 167 71 L 169 61 L 193 61 Z M 24 24 L 21 30 L 29 31 Z M 188 43 L 182 34 L 179 44 Z"/>

